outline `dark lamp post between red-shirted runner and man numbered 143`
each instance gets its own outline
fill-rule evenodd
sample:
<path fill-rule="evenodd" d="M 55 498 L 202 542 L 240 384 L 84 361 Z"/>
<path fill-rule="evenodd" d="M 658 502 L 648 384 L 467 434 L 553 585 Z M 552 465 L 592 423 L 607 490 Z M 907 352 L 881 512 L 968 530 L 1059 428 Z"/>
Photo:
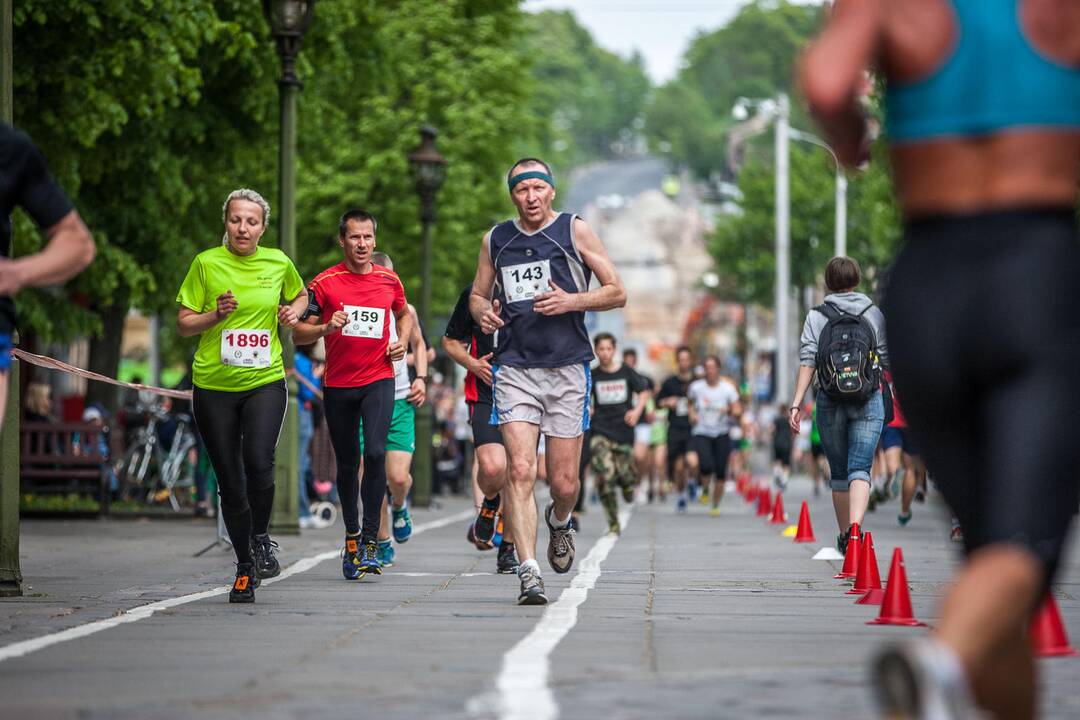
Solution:
<path fill-rule="evenodd" d="M 420 195 L 420 324 L 431 327 L 431 226 L 435 222 L 435 196 L 446 179 L 446 158 L 435 147 L 434 127 L 420 128 L 420 147 L 408 157 Z M 413 502 L 418 507 L 431 504 L 431 424 L 432 406 L 424 404 L 416 418 L 416 472 Z"/>

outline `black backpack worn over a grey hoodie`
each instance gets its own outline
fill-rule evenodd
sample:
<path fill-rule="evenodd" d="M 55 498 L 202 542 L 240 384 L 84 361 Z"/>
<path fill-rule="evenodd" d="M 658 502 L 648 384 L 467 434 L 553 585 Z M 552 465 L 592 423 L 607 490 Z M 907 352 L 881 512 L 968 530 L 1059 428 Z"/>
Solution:
<path fill-rule="evenodd" d="M 858 315 L 828 302 L 814 308 L 828 321 L 818 337 L 818 383 L 833 399 L 861 405 L 881 389 L 877 334 L 863 317 L 873 307 Z"/>

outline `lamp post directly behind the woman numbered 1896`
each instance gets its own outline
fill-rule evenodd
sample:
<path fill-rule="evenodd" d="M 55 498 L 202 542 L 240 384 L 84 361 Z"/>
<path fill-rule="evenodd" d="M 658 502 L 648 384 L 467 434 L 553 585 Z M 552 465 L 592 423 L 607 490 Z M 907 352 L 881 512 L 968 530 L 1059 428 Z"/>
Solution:
<path fill-rule="evenodd" d="M 296 96 L 300 80 L 296 77 L 296 56 L 308 26 L 314 0 L 262 0 L 262 12 L 270 24 L 270 33 L 278 43 L 281 56 L 281 80 L 278 81 L 281 99 L 281 135 L 278 155 L 278 231 L 279 246 L 296 260 Z M 293 367 L 293 344 L 282 343 L 282 359 L 286 368 Z M 296 402 L 296 381 L 289 380 L 288 408 L 278 443 L 274 462 L 275 493 L 271 528 L 278 534 L 298 534 L 299 526 L 299 408 Z"/>

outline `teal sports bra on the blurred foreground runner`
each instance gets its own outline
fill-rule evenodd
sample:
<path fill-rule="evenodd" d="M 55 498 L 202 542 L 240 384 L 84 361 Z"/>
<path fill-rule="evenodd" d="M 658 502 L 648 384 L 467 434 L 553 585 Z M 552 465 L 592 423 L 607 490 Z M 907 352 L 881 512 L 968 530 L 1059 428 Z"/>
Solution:
<path fill-rule="evenodd" d="M 1044 57 L 1024 37 L 1018 0 L 951 0 L 959 39 L 924 80 L 890 84 L 891 139 L 986 135 L 1013 127 L 1080 130 L 1080 67 Z"/>

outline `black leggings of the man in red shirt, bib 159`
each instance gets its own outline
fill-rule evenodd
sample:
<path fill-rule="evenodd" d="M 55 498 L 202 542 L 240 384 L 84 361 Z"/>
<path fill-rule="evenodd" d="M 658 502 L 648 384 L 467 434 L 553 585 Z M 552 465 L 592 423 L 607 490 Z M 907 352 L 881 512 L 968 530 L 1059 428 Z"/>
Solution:
<path fill-rule="evenodd" d="M 364 502 L 362 541 L 378 538 L 382 499 L 387 494 L 387 434 L 394 415 L 394 380 L 377 380 L 362 388 L 326 388 L 323 391 L 326 426 L 337 458 L 338 494 L 345 531 L 361 532 L 360 507 Z M 364 420 L 364 481 L 360 472 L 360 420 Z"/>

